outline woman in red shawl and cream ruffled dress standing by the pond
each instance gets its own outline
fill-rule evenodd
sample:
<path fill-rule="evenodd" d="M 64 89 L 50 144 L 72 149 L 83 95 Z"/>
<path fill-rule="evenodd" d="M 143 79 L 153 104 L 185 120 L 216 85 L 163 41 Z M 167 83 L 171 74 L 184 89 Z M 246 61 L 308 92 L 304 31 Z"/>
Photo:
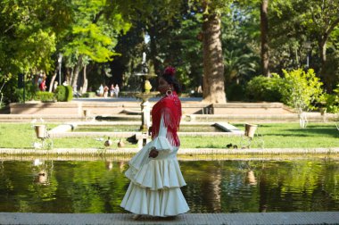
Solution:
<path fill-rule="evenodd" d="M 177 153 L 180 146 L 178 127 L 181 119 L 180 86 L 175 69 L 167 68 L 159 79 L 164 95 L 152 110 L 152 141 L 129 162 L 125 175 L 131 180 L 121 207 L 141 215 L 176 216 L 189 210 L 180 187 L 186 185 Z"/>

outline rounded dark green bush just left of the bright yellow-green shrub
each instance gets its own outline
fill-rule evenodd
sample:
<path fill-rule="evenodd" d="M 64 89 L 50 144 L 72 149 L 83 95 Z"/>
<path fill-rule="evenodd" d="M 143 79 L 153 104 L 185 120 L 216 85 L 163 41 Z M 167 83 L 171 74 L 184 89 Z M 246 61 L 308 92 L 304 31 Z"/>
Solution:
<path fill-rule="evenodd" d="M 277 74 L 272 74 L 272 78 L 262 75 L 254 77 L 247 83 L 245 95 L 250 101 L 279 102 L 282 97 L 279 89 L 282 82 Z"/>

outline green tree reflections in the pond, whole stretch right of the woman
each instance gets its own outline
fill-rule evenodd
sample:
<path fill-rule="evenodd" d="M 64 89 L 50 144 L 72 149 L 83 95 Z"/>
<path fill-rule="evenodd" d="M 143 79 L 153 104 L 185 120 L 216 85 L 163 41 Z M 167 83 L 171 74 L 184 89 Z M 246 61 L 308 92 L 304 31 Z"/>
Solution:
<path fill-rule="evenodd" d="M 335 184 L 339 179 L 339 162 L 327 162 L 324 166 L 319 161 L 252 163 L 254 166 L 239 170 L 239 162 L 232 161 L 180 162 L 191 212 L 219 212 L 219 204 L 221 212 L 338 209 Z M 253 177 L 250 182 L 251 173 L 257 185 Z M 215 178 L 220 178 L 220 182 L 213 184 Z M 213 188 L 219 188 L 218 195 Z"/>

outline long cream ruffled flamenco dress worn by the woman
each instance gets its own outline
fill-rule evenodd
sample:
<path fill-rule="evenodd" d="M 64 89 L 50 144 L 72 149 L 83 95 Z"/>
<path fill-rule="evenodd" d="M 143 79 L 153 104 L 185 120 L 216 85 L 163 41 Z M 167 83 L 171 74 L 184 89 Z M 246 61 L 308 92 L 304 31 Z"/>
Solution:
<path fill-rule="evenodd" d="M 130 161 L 125 175 L 130 179 L 121 207 L 140 215 L 175 216 L 189 210 L 180 187 L 186 182 L 177 160 L 178 147 L 171 146 L 166 137 L 163 117 L 158 137 L 144 146 Z M 156 158 L 148 156 L 155 147 Z"/>

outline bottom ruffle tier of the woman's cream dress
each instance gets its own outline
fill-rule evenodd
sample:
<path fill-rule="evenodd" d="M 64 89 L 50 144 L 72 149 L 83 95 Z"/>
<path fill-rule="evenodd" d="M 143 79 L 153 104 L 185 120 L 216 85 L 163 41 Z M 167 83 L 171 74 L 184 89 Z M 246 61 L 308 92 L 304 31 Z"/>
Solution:
<path fill-rule="evenodd" d="M 129 212 L 152 216 L 173 216 L 189 210 L 180 188 L 150 190 L 130 183 L 121 207 Z"/>

